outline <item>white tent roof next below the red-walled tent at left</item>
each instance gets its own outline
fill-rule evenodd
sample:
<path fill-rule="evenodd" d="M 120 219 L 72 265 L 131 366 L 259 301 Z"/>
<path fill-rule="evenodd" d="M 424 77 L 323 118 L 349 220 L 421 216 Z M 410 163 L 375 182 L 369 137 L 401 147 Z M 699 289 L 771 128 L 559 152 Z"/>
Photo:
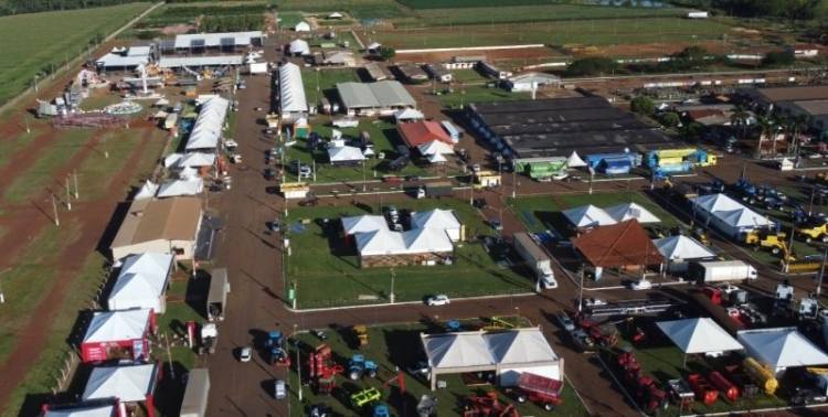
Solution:
<path fill-rule="evenodd" d="M 118 398 L 144 402 L 155 389 L 158 364 L 96 367 L 86 383 L 83 399 Z"/>

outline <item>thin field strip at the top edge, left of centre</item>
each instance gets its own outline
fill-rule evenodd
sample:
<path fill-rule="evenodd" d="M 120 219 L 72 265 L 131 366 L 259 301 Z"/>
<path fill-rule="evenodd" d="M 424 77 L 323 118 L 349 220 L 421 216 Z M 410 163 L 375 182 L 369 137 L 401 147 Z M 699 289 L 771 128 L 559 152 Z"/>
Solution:
<path fill-rule="evenodd" d="M 274 0 L 276 12 L 348 12 L 354 19 L 390 19 L 406 15 L 394 0 Z"/>

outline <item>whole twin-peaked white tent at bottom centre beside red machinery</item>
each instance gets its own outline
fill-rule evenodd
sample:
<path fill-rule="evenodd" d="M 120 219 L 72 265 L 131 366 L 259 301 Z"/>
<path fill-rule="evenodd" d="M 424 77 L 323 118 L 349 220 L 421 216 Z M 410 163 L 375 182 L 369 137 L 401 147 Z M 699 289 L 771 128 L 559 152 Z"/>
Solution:
<path fill-rule="evenodd" d="M 563 361 L 540 329 L 506 332 L 421 334 L 432 371 L 432 389 L 439 374 L 493 371 L 500 386 L 513 386 L 523 372 L 563 377 Z"/>

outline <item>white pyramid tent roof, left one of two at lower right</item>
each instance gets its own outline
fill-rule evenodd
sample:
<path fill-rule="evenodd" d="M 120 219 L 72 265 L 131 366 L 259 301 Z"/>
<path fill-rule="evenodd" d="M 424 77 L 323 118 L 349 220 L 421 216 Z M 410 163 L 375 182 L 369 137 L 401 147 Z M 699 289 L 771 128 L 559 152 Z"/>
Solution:
<path fill-rule="evenodd" d="M 709 318 L 662 321 L 656 324 L 684 353 L 725 352 L 744 349 L 741 343 Z"/>

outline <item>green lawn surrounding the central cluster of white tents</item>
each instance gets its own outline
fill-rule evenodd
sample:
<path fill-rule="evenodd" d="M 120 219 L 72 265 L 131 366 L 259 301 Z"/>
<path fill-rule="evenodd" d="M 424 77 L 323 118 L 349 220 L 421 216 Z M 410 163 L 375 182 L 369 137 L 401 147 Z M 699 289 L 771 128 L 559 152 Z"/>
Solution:
<path fill-rule="evenodd" d="M 288 222 L 307 218 L 302 233 L 289 233 L 293 255 L 287 257 L 285 274 L 298 284 L 297 300 L 300 308 L 319 308 L 348 304 L 388 302 L 391 292 L 391 268 L 358 267 L 353 247 L 346 247 L 341 237 L 323 234 L 314 222 L 317 218 L 376 213 L 376 206 L 359 207 L 342 201 L 338 206 L 291 209 Z M 373 204 L 372 204 L 373 205 Z M 425 211 L 434 207 L 452 209 L 467 226 L 467 236 L 490 234 L 486 220 L 468 203 L 455 199 L 399 203 L 397 209 Z M 371 212 L 367 212 L 370 210 Z M 394 268 L 394 293 L 399 301 L 423 300 L 427 295 L 446 293 L 449 297 L 476 297 L 529 292 L 532 282 L 524 271 L 499 268 L 479 243 L 459 243 L 454 265 L 433 267 Z M 360 296 L 368 296 L 362 297 Z"/>

